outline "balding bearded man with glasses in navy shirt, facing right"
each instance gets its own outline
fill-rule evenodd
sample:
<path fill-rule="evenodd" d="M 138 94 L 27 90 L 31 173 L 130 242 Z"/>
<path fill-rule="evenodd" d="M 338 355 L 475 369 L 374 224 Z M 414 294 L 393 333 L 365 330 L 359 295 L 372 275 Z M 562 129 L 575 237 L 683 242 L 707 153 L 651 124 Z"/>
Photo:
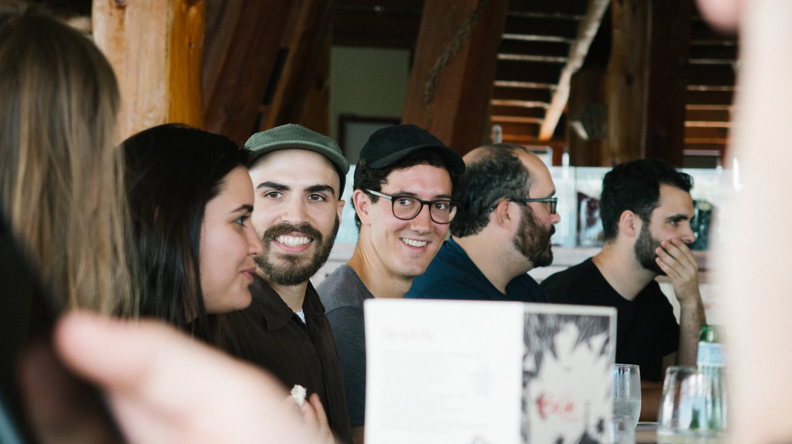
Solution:
<path fill-rule="evenodd" d="M 550 171 L 508 144 L 476 148 L 465 165 L 451 239 L 406 298 L 546 302 L 527 271 L 553 262 L 550 237 L 561 218 Z"/>

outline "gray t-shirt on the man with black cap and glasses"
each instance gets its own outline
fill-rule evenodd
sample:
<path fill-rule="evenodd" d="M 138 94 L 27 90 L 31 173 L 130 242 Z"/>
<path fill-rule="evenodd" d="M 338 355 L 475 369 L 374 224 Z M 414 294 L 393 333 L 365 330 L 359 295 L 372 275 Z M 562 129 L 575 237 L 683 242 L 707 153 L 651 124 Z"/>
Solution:
<path fill-rule="evenodd" d="M 364 425 L 366 410 L 366 341 L 363 301 L 374 298 L 357 273 L 341 265 L 316 287 L 330 326 L 333 328 L 341 374 L 346 389 L 349 422 Z"/>

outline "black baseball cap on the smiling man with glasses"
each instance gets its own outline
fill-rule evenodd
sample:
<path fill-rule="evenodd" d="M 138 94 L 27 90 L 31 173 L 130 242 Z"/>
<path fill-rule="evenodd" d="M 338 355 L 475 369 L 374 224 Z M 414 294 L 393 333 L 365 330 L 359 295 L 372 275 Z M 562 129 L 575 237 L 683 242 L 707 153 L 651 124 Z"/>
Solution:
<path fill-rule="evenodd" d="M 360 160 L 365 160 L 371 169 L 384 169 L 417 150 L 436 150 L 443 157 L 446 168 L 451 173 L 465 172 L 465 161 L 429 131 L 411 124 L 384 127 L 368 138 Z"/>

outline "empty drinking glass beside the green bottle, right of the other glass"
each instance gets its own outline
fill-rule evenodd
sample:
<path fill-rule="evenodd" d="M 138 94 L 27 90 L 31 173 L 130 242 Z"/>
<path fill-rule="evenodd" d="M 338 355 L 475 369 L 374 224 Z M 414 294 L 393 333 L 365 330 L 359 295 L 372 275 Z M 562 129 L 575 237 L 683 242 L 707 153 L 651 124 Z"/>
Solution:
<path fill-rule="evenodd" d="M 719 381 L 694 366 L 668 367 L 657 417 L 658 442 L 720 442 L 723 431 L 710 427 L 710 416 L 713 400 L 722 400 L 721 391 Z"/>

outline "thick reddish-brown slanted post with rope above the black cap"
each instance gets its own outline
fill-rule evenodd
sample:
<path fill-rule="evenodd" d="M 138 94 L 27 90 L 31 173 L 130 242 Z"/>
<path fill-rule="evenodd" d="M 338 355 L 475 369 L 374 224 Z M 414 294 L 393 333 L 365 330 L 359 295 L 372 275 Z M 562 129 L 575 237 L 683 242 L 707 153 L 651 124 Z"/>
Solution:
<path fill-rule="evenodd" d="M 485 142 L 507 9 L 505 0 L 426 0 L 402 123 L 427 129 L 459 154 Z"/>

